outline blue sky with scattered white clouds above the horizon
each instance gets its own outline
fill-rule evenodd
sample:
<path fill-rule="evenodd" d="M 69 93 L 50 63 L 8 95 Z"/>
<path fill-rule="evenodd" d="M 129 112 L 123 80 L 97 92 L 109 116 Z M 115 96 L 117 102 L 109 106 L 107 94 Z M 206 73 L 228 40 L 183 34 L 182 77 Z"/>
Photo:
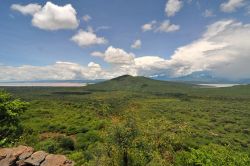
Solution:
<path fill-rule="evenodd" d="M 196 71 L 211 71 L 215 76 L 227 78 L 229 73 L 218 68 L 223 64 L 229 66 L 227 70 L 240 73 L 240 77 L 230 79 L 249 78 L 244 71 L 242 74 L 243 69 L 238 69 L 249 60 L 248 45 L 240 49 L 235 45 L 250 42 L 239 36 L 242 31 L 249 34 L 247 0 L 10 0 L 0 3 L 0 80 L 39 79 L 36 76 L 40 79 L 110 78 L 120 74 L 179 77 Z M 28 9 L 29 4 L 36 4 L 37 9 L 34 11 L 34 6 Z M 66 7 L 67 4 L 71 6 Z M 46 7 L 50 11 L 45 11 Z M 53 12 L 55 19 L 50 16 Z M 38 15 L 46 15 L 48 19 L 41 21 Z M 84 21 L 86 15 L 91 19 Z M 32 23 L 32 20 L 38 21 Z M 151 30 L 143 30 L 145 24 L 151 24 Z M 209 39 L 204 38 L 213 26 L 215 32 L 221 26 L 224 29 Z M 231 31 L 234 34 L 229 35 Z M 77 34 L 77 41 L 73 40 Z M 233 42 L 223 49 L 231 45 L 235 48 L 221 53 L 219 45 L 225 44 L 225 39 Z M 136 40 L 140 44 L 132 48 Z M 200 50 L 202 41 L 217 46 Z M 192 52 L 194 56 L 187 55 L 190 44 L 200 50 Z M 184 53 L 178 51 L 182 47 Z M 93 56 L 93 52 L 99 54 Z M 216 52 L 220 57 L 211 58 L 207 52 Z"/>

